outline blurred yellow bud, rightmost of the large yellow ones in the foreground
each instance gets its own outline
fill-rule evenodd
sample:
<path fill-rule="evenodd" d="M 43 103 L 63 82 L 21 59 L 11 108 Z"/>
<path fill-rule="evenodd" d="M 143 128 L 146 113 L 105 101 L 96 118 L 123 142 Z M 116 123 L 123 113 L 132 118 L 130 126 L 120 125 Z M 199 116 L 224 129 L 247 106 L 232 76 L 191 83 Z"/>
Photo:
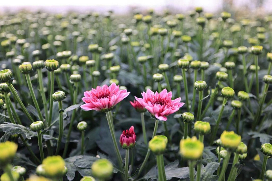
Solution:
<path fill-rule="evenodd" d="M 220 139 L 223 147 L 231 149 L 236 149 L 241 142 L 241 136 L 235 134 L 233 131 L 224 131 L 221 134 Z"/>

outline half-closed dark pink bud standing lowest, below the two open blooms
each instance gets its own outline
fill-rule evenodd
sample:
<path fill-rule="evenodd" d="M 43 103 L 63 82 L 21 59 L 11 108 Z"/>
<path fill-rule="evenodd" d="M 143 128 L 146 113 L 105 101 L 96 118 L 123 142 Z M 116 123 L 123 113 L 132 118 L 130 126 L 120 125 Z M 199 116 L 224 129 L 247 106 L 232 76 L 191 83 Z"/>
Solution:
<path fill-rule="evenodd" d="M 120 136 L 120 144 L 121 147 L 124 149 L 130 149 L 135 146 L 136 142 L 136 135 L 134 132 L 134 126 L 131 126 L 129 131 L 123 131 L 123 133 Z"/>

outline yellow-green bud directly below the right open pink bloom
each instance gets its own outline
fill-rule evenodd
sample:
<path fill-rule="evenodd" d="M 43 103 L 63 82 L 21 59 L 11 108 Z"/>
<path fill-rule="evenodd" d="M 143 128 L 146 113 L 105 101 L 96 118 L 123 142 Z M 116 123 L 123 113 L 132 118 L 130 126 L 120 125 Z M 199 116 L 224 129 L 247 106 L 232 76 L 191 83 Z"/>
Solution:
<path fill-rule="evenodd" d="M 163 154 L 167 146 L 167 137 L 160 135 L 155 136 L 148 143 L 149 149 L 156 155 Z"/>

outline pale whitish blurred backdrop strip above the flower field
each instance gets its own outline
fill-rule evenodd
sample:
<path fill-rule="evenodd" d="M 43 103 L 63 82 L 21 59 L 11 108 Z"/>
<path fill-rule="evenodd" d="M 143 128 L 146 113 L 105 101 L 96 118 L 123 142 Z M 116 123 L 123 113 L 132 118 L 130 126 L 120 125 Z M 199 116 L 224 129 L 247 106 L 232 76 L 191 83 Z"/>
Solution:
<path fill-rule="evenodd" d="M 117 14 L 129 13 L 134 9 L 154 9 L 161 11 L 188 11 L 196 6 L 203 7 L 206 12 L 254 12 L 257 14 L 272 12 L 272 0 L 0 0 L 0 13 L 20 10 L 47 11 L 62 13 L 67 11 L 98 11 L 114 10 Z"/>

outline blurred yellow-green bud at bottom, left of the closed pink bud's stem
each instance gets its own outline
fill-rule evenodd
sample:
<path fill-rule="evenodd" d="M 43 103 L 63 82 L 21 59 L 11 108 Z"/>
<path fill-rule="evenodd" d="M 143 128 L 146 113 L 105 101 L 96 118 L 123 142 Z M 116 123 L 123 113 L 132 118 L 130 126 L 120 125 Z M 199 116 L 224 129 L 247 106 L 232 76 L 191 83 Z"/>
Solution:
<path fill-rule="evenodd" d="M 91 169 L 96 178 L 107 180 L 112 176 L 113 166 L 107 159 L 99 159 L 92 164 Z"/>

